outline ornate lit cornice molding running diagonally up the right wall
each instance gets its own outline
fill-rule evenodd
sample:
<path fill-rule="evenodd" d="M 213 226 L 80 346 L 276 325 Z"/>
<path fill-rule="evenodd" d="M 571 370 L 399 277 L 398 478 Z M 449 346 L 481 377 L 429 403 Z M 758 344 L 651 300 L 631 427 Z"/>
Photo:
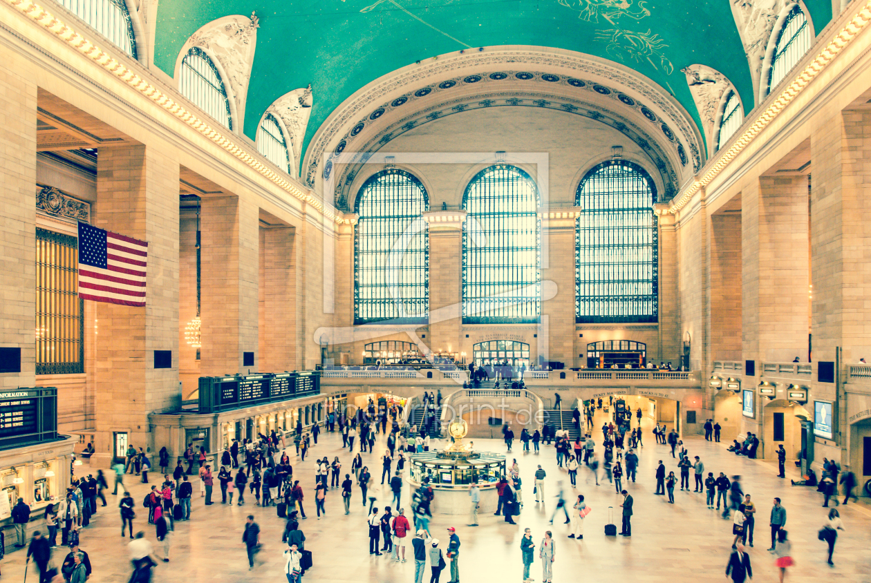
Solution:
<path fill-rule="evenodd" d="M 719 173 L 725 170 L 726 166 L 731 164 L 735 157 L 738 157 L 739 153 L 751 144 L 766 129 L 768 124 L 771 124 L 774 119 L 778 118 L 787 109 L 787 105 L 791 104 L 807 88 L 807 85 L 818 77 L 823 70 L 826 70 L 834 58 L 853 42 L 854 38 L 868 26 L 868 23 L 871 23 L 871 0 L 861 3 L 852 17 L 847 16 L 841 22 L 844 22 L 841 30 L 838 30 L 827 43 L 821 36 L 818 37 L 818 42 L 814 44 L 811 50 L 808 51 L 808 56 L 805 57 L 807 65 L 793 77 L 792 83 L 788 84 L 776 97 L 774 95 L 770 96 L 767 100 L 767 107 L 746 120 L 744 126 L 742 126 L 744 131 L 739 136 L 736 135 L 733 138 L 732 144 L 728 149 L 720 150 L 717 157 L 713 157 L 708 161 L 706 167 L 702 169 L 704 173 L 699 178 L 693 180 L 692 184 L 689 184 L 679 193 L 678 197 L 672 200 L 672 205 L 669 207 L 668 212 L 672 214 L 680 212 L 699 191 L 702 191 L 708 184 L 711 184 L 719 176 Z M 814 50 L 819 52 L 817 52 L 815 57 L 810 58 L 813 56 Z M 810 61 L 808 62 L 807 59 L 810 59 Z M 750 122 L 751 119 L 753 120 L 752 123 Z"/>

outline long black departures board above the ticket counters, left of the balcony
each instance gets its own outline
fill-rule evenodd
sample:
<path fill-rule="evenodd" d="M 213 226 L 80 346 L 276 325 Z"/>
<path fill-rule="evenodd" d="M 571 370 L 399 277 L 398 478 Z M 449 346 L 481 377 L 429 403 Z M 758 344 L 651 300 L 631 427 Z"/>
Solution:
<path fill-rule="evenodd" d="M 273 401 L 298 399 L 320 392 L 320 372 L 200 377 L 198 411 L 227 411 Z"/>

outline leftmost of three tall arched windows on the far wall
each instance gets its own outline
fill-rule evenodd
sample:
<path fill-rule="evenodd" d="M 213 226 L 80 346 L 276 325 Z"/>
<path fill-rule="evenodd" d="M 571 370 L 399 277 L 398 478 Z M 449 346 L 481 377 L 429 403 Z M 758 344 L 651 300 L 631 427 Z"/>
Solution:
<path fill-rule="evenodd" d="M 429 321 L 429 210 L 423 184 L 402 170 L 368 178 L 357 194 L 354 324 Z"/>

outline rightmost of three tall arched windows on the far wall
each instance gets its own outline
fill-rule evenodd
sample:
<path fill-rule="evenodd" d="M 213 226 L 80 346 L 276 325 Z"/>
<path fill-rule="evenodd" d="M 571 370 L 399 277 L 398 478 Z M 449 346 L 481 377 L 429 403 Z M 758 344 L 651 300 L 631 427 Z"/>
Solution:
<path fill-rule="evenodd" d="M 656 190 L 631 162 L 599 164 L 577 187 L 576 322 L 656 322 Z"/>

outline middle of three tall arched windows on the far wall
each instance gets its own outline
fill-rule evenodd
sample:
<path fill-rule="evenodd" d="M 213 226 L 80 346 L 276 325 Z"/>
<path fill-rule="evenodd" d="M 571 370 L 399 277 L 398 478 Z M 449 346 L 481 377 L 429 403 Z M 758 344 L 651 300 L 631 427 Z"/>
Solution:
<path fill-rule="evenodd" d="M 463 208 L 463 323 L 535 323 L 541 310 L 538 188 L 499 164 L 478 172 Z"/>

